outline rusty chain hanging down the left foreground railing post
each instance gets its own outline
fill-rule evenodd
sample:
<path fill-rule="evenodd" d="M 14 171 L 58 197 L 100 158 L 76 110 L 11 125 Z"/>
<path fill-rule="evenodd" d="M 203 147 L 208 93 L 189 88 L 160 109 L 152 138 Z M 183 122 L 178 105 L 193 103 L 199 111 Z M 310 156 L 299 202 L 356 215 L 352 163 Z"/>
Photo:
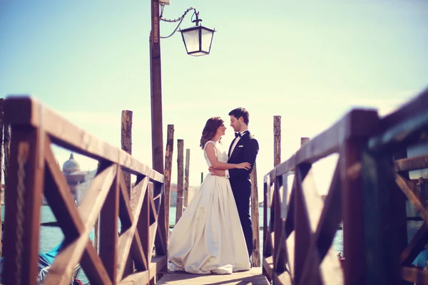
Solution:
<path fill-rule="evenodd" d="M 22 237 L 24 233 L 24 206 L 25 206 L 25 165 L 29 157 L 29 143 L 19 142 L 18 145 L 18 185 L 16 187 L 16 256 L 15 256 L 15 281 L 21 284 L 21 255 Z"/>

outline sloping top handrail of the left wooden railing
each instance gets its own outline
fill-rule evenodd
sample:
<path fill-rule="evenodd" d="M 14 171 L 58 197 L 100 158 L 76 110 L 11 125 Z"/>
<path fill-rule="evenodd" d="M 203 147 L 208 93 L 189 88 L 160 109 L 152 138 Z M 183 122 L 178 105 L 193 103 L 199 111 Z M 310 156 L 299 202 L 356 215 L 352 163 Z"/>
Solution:
<path fill-rule="evenodd" d="M 126 151 L 103 142 L 76 125 L 68 122 L 53 110 L 28 96 L 8 97 L 5 100 L 5 120 L 15 125 L 43 128 L 57 145 L 86 155 L 95 160 L 118 163 L 134 175 L 145 175 L 151 181 L 163 182 L 163 175 L 144 165 Z M 42 115 L 43 114 L 43 115 Z M 64 131 L 67 130 L 67 131 Z"/>

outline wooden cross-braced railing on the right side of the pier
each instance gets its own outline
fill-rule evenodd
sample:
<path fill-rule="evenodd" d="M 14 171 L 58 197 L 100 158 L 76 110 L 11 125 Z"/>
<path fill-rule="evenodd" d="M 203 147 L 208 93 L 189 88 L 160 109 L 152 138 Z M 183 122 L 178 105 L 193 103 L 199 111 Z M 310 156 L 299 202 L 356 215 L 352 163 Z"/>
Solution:
<path fill-rule="evenodd" d="M 379 118 L 375 110 L 352 110 L 265 175 L 265 275 L 275 284 L 428 280 L 427 271 L 408 267 L 427 243 L 428 230 L 422 227 L 407 246 L 402 192 L 427 224 L 428 208 L 425 200 L 414 194 L 417 191 L 412 182 L 400 175 L 427 167 L 428 157 L 393 162 L 406 147 L 426 142 L 427 130 L 427 91 L 385 118 Z M 312 164 L 333 153 L 339 158 L 323 202 L 315 187 Z M 289 175 L 294 175 L 290 192 Z M 402 192 L 396 191 L 397 185 Z M 345 254 L 342 264 L 332 249 L 340 222 Z"/>

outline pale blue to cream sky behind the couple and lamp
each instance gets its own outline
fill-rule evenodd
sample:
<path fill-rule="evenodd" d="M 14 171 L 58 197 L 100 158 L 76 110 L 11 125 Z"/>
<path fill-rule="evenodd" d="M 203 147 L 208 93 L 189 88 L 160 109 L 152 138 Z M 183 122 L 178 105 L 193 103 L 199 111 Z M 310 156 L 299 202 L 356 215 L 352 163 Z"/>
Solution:
<path fill-rule="evenodd" d="M 428 86 L 428 2 L 172 0 L 215 28 L 209 56 L 161 41 L 163 123 L 190 148 L 190 185 L 207 172 L 198 147 L 205 121 L 250 111 L 260 142 L 259 192 L 273 166 L 273 115 L 282 115 L 282 160 L 350 108 L 386 114 Z M 192 26 L 190 16 L 182 28 Z M 167 36 L 175 24 L 161 23 Z M 133 154 L 151 165 L 150 1 L 0 0 L 0 94 L 30 94 L 120 147 L 121 110 L 133 110 Z M 233 138 L 231 128 L 224 147 Z M 164 140 L 165 142 L 165 140 Z M 58 162 L 69 152 L 55 149 Z M 176 155 L 176 153 L 175 153 Z M 83 170 L 96 162 L 76 155 Z M 335 157 L 315 165 L 325 192 Z M 323 165 L 324 166 L 320 166 Z M 176 182 L 176 156 L 173 157 Z"/>

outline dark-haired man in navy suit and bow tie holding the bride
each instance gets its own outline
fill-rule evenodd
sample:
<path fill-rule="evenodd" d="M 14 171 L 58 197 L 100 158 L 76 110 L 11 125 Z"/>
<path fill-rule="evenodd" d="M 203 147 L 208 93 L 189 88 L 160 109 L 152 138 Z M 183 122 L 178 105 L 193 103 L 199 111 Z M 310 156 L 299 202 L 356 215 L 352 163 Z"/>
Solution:
<path fill-rule="evenodd" d="M 249 170 L 230 169 L 215 170 L 210 168 L 213 175 L 225 176 L 230 180 L 236 207 L 243 227 L 245 242 L 247 243 L 248 256 L 253 253 L 253 228 L 250 218 L 250 198 L 251 181 L 250 173 L 255 164 L 259 146 L 258 141 L 248 131 L 250 114 L 245 108 L 236 108 L 229 112 L 230 126 L 235 130 L 235 139 L 230 143 L 228 163 L 248 162 L 251 165 Z"/>

